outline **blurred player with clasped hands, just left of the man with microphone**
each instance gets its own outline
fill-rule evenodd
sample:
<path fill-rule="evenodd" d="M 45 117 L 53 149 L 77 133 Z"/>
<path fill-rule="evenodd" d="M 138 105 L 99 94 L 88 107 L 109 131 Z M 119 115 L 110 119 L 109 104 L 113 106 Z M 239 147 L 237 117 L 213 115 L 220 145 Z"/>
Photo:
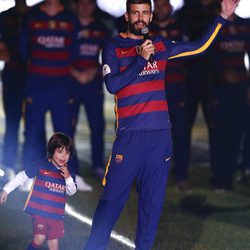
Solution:
<path fill-rule="evenodd" d="M 78 57 L 71 68 L 75 79 L 75 130 L 80 106 L 83 105 L 90 128 L 91 160 L 93 176 L 104 175 L 104 92 L 101 74 L 100 52 L 109 37 L 109 30 L 95 17 L 95 0 L 75 0 L 75 12 L 80 27 Z M 75 133 L 76 131 L 74 131 Z"/>

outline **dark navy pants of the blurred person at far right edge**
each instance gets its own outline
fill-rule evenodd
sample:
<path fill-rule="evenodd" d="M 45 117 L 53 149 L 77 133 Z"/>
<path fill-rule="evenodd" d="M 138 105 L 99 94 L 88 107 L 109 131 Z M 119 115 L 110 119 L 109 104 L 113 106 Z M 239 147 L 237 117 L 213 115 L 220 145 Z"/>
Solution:
<path fill-rule="evenodd" d="M 237 170 L 244 120 L 247 85 L 213 86 L 211 104 L 211 183 L 218 188 L 232 187 Z"/>

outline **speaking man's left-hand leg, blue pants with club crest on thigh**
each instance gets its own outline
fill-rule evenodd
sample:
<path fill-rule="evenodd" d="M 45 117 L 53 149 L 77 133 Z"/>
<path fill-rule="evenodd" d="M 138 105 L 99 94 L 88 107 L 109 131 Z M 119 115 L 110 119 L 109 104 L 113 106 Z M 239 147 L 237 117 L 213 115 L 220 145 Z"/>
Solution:
<path fill-rule="evenodd" d="M 140 133 L 117 136 L 105 187 L 95 211 L 91 235 L 85 250 L 106 249 L 111 231 L 128 199 L 133 180 L 144 160 Z"/>

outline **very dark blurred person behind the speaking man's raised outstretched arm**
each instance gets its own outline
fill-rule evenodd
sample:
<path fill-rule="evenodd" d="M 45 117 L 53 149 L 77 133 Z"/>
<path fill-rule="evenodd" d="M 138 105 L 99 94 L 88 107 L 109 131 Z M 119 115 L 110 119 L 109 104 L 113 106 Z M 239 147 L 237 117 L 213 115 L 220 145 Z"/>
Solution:
<path fill-rule="evenodd" d="M 194 41 L 200 37 L 214 17 L 220 12 L 218 0 L 185 0 L 176 16 L 181 23 L 185 40 Z M 191 58 L 185 65 L 187 71 L 187 108 L 189 122 L 189 148 L 192 144 L 192 129 L 201 107 L 202 115 L 210 137 L 209 83 L 210 62 L 208 54 Z M 209 139 L 210 145 L 210 139 Z M 190 150 L 192 152 L 192 150 Z"/>

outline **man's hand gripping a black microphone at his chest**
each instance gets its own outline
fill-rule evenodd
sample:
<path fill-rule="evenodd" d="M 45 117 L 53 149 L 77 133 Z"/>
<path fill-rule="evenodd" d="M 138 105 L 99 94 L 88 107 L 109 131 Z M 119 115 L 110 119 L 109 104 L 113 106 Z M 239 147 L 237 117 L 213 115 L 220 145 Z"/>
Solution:
<path fill-rule="evenodd" d="M 143 36 L 143 41 L 144 41 L 143 44 L 141 45 L 141 55 L 150 63 L 153 63 L 153 55 L 155 52 L 155 47 L 149 38 L 148 27 L 143 27 L 141 29 L 141 34 Z"/>

